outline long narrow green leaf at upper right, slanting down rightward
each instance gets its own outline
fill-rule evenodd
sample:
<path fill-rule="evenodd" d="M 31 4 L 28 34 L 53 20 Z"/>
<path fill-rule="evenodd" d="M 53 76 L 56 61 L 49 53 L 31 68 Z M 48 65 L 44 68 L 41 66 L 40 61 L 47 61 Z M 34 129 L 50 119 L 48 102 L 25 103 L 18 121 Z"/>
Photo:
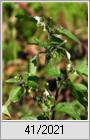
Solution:
<path fill-rule="evenodd" d="M 80 43 L 79 39 L 73 35 L 71 32 L 69 32 L 67 29 L 64 29 L 63 27 L 60 27 L 56 30 L 56 34 L 62 34 L 72 40 L 74 40 L 77 43 Z"/>

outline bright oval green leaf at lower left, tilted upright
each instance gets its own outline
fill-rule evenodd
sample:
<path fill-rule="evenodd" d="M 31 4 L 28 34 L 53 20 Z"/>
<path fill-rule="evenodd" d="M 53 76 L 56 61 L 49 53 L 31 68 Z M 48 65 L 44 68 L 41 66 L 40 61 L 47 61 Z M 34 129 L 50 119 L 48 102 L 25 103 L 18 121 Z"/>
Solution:
<path fill-rule="evenodd" d="M 20 100 L 23 94 L 24 94 L 24 91 L 22 87 L 14 87 L 10 92 L 9 100 L 15 103 Z"/>

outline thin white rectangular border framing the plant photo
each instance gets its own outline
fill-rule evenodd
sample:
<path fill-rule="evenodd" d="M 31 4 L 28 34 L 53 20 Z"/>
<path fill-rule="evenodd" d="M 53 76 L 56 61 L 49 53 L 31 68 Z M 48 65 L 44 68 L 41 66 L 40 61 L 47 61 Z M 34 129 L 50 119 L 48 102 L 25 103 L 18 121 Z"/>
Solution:
<path fill-rule="evenodd" d="M 1 121 L 2 122 L 27 122 L 27 121 L 31 121 L 31 122 L 88 122 L 89 121 L 89 91 L 90 91 L 90 88 L 89 88 L 89 74 L 90 74 L 90 72 L 89 72 L 89 1 L 88 0 L 86 0 L 86 1 L 80 1 L 80 0 L 76 0 L 76 1 L 50 1 L 50 0 L 48 0 L 48 1 L 45 1 L 45 0 L 43 0 L 43 1 L 19 1 L 19 0 L 17 0 L 17 1 L 1 1 L 1 95 L 2 95 L 2 69 L 3 69 L 3 67 L 2 67 L 2 3 L 4 3 L 4 2 L 25 2 L 25 3 L 28 3 L 28 2 L 31 2 L 31 3 L 33 3 L 33 2 L 75 2 L 75 3 L 88 3 L 88 119 L 87 120 L 2 120 L 2 96 L 1 96 Z"/>

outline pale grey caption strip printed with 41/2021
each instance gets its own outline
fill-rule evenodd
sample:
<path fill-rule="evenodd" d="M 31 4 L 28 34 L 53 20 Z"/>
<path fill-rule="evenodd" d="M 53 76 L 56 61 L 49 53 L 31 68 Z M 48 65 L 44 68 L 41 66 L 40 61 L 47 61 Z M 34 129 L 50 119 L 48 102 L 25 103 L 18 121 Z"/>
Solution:
<path fill-rule="evenodd" d="M 1 138 L 89 139 L 89 122 L 2 121 Z"/>

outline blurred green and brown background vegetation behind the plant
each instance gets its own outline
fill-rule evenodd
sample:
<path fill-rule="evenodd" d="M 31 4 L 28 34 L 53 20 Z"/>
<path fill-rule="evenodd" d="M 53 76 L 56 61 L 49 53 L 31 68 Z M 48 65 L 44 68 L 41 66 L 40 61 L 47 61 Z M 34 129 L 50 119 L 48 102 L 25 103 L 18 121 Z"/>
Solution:
<path fill-rule="evenodd" d="M 85 2 L 33 2 L 33 3 L 18 3 L 4 2 L 3 3 L 3 103 L 6 102 L 11 85 L 7 85 L 5 80 L 26 70 L 27 55 L 34 56 L 37 53 L 37 45 L 30 43 L 36 38 L 44 41 L 47 34 L 38 29 L 32 21 L 17 20 L 16 15 L 25 14 L 32 16 L 52 17 L 53 20 L 63 27 L 74 33 L 81 45 L 72 43 L 67 45 L 68 51 L 71 54 L 71 59 L 78 67 L 84 66 L 87 63 L 88 56 L 88 5 Z M 40 63 L 42 65 L 44 57 L 41 56 Z M 77 81 L 81 81 L 79 77 Z M 87 84 L 87 81 L 86 81 Z M 63 94 L 62 100 L 68 100 L 68 93 Z M 33 101 L 27 97 L 26 104 L 33 106 Z M 12 104 L 14 110 L 11 109 L 13 119 L 19 119 L 20 106 Z M 24 112 L 25 106 L 22 107 Z M 16 112 L 16 113 L 13 113 Z M 19 112 L 19 113 L 17 113 Z M 6 118 L 5 118 L 6 119 Z M 65 118 L 64 118 L 65 119 Z"/>

